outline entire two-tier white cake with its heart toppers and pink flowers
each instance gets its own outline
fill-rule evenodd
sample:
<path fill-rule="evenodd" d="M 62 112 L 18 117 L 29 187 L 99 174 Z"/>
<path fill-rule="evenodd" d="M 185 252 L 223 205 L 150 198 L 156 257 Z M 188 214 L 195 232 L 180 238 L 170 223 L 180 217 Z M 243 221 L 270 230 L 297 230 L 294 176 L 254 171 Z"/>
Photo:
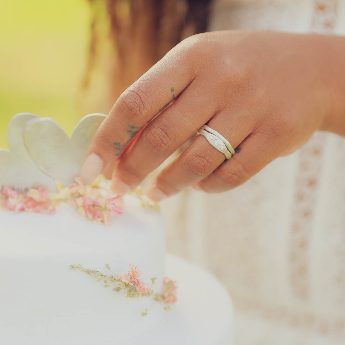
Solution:
<path fill-rule="evenodd" d="M 113 198 L 115 208 L 106 209 L 114 213 L 109 224 L 97 224 L 97 217 L 86 219 L 80 197 L 65 202 L 65 192 L 73 191 L 74 198 L 80 182 L 74 189 L 58 188 L 63 201 L 48 214 L 57 197 L 54 180 L 66 186 L 75 180 L 103 117 L 82 119 L 71 139 L 51 119 L 23 113 L 10 122 L 10 150 L 0 149 L 0 344 L 233 344 L 225 289 L 203 269 L 170 257 L 168 270 L 178 277 L 169 278 L 180 279 L 173 304 L 175 283 L 168 283 L 169 294 L 163 288 L 168 281 L 163 217 L 143 208 L 141 197 L 124 196 L 123 212 L 116 216 L 120 196 L 98 179 L 99 200 Z M 32 200 L 19 207 L 22 199 L 10 196 L 33 198 L 41 187 L 49 195 L 48 208 L 34 209 Z M 94 271 L 107 277 L 97 279 L 101 274 Z"/>

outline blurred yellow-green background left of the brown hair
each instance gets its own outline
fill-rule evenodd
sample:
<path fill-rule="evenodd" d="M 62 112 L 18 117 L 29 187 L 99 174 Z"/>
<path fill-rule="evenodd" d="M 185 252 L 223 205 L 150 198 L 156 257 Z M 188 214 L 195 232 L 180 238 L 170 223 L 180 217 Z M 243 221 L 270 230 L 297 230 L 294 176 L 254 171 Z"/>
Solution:
<path fill-rule="evenodd" d="M 51 117 L 70 133 L 80 118 L 87 0 L 0 0 L 0 9 L 0 147 L 18 112 Z"/>

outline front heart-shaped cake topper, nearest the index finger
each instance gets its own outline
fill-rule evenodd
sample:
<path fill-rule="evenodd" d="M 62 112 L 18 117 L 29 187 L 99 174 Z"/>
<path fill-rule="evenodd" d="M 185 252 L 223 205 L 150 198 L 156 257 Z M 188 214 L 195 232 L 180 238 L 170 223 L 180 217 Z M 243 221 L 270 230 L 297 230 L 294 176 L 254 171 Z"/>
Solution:
<path fill-rule="evenodd" d="M 80 175 L 87 150 L 104 114 L 83 117 L 71 138 L 50 118 L 31 119 L 24 130 L 24 142 L 31 158 L 45 174 L 65 186 Z"/>

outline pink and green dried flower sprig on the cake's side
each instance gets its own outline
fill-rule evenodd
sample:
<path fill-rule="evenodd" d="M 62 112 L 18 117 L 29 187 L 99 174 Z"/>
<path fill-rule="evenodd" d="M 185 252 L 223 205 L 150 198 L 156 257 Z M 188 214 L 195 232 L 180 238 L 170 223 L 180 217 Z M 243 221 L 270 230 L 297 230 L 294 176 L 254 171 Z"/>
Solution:
<path fill-rule="evenodd" d="M 121 273 L 120 276 L 117 276 L 112 270 L 110 269 L 109 264 L 106 264 L 106 268 L 112 273 L 110 275 L 99 272 L 97 270 L 87 269 L 78 265 L 70 265 L 70 269 L 73 270 L 81 270 L 90 276 L 94 276 L 97 279 L 97 282 L 103 280 L 104 287 L 112 287 L 112 290 L 119 292 L 121 290 L 127 290 L 126 297 L 129 298 L 146 298 L 150 296 L 154 296 L 154 299 L 157 302 L 164 302 L 167 304 L 164 309 L 169 311 L 171 309 L 170 305 L 176 303 L 177 301 L 177 285 L 176 281 L 165 277 L 163 280 L 163 289 L 162 292 L 154 294 L 152 286 L 155 284 L 157 278 L 151 278 L 151 286 L 148 287 L 147 283 L 144 283 L 142 280 L 139 279 L 141 276 L 141 270 L 137 268 L 137 266 L 133 264 L 129 264 L 130 270 L 127 274 Z M 115 284 L 115 285 L 114 285 Z M 144 312 L 141 313 L 142 316 L 146 316 L 149 309 L 145 309 Z"/>

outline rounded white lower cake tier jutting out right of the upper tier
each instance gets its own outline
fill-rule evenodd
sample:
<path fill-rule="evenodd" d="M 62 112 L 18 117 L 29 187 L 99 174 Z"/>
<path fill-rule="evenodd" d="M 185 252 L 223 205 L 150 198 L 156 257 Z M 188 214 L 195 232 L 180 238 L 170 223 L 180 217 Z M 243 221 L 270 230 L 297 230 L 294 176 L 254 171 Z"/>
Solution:
<path fill-rule="evenodd" d="M 206 269 L 169 254 L 165 273 L 177 280 L 178 300 L 160 319 L 150 336 L 152 342 L 148 334 L 142 344 L 234 345 L 233 304 L 219 280 Z"/>

